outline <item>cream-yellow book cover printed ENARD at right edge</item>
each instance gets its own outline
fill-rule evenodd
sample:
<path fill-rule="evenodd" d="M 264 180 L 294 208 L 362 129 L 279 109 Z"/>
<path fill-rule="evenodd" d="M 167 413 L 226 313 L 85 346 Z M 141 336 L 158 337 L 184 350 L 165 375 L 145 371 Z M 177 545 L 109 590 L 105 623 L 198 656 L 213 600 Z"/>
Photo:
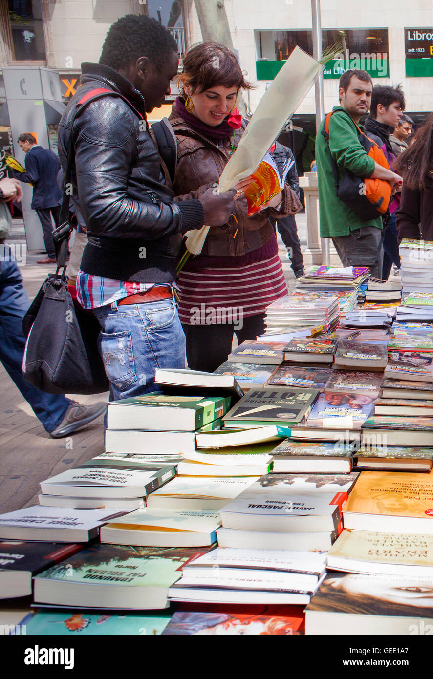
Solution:
<path fill-rule="evenodd" d="M 433 536 L 346 528 L 328 551 L 328 559 L 333 557 L 373 564 L 433 566 Z"/>

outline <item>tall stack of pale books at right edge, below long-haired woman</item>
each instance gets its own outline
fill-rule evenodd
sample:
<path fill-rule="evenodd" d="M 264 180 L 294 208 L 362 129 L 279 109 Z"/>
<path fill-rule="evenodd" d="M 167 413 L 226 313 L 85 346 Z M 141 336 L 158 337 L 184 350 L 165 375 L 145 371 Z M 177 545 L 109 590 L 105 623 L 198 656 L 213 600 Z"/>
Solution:
<path fill-rule="evenodd" d="M 433 242 L 404 238 L 400 243 L 402 293 L 433 292 Z"/>

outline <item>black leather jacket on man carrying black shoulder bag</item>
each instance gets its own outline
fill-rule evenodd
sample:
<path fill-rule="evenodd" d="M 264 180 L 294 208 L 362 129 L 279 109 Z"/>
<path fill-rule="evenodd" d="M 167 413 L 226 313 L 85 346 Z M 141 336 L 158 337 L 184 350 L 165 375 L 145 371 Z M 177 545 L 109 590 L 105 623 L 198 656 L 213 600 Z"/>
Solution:
<path fill-rule="evenodd" d="M 71 182 L 89 242 L 82 270 L 116 280 L 171 282 L 184 232 L 203 226 L 199 200 L 173 202 L 160 157 L 145 120 L 145 104 L 118 71 L 82 64 L 82 86 L 58 128 L 58 155 L 65 171 L 76 104 L 97 88 L 102 96 L 83 108 L 73 125 L 75 168 Z M 135 109 L 135 111 L 134 111 Z"/>

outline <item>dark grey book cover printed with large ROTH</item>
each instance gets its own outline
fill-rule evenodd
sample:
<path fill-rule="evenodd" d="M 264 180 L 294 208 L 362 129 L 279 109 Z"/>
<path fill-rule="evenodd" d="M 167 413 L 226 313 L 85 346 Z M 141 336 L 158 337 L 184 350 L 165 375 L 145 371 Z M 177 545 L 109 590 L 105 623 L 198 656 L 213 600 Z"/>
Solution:
<path fill-rule="evenodd" d="M 277 424 L 300 422 L 318 394 L 317 389 L 264 387 L 251 389 L 224 416 L 224 423 Z"/>

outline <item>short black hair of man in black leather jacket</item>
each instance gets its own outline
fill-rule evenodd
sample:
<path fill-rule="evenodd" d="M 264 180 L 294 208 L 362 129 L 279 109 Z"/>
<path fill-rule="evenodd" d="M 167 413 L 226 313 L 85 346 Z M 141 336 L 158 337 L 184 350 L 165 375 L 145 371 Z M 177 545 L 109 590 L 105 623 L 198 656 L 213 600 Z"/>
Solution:
<path fill-rule="evenodd" d="M 118 70 L 147 56 L 160 67 L 172 52 L 177 42 L 169 29 L 144 14 L 126 14 L 109 27 L 99 63 Z"/>

